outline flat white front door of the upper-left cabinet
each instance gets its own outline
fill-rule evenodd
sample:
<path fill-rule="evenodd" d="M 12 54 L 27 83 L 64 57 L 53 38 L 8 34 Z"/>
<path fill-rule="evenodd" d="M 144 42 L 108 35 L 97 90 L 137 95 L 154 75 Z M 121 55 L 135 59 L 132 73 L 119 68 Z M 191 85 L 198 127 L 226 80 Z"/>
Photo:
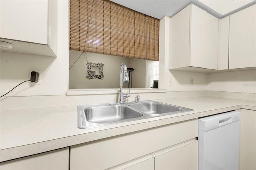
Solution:
<path fill-rule="evenodd" d="M 1 0 L 0 37 L 47 44 L 47 0 Z"/>

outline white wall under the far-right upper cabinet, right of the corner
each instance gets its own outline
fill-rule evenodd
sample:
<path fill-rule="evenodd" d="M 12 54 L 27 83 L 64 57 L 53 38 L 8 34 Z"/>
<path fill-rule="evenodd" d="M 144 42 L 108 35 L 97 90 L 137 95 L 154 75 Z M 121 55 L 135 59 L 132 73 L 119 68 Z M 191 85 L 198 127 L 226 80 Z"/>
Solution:
<path fill-rule="evenodd" d="M 240 93 L 256 93 L 256 71 L 229 71 L 210 73 L 207 90 Z"/>

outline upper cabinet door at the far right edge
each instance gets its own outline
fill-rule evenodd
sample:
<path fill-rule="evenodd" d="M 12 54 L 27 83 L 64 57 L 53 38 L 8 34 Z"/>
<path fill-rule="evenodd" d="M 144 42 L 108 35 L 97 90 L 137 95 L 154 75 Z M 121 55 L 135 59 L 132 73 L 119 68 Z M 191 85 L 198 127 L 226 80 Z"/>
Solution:
<path fill-rule="evenodd" d="M 229 69 L 256 67 L 256 4 L 230 16 Z"/>

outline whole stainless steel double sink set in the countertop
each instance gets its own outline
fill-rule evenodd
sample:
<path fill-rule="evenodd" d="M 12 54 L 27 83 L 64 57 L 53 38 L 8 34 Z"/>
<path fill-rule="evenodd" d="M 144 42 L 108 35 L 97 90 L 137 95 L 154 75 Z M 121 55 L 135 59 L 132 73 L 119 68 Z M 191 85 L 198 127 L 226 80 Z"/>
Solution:
<path fill-rule="evenodd" d="M 78 128 L 92 128 L 150 117 L 193 111 L 157 101 L 78 106 Z"/>

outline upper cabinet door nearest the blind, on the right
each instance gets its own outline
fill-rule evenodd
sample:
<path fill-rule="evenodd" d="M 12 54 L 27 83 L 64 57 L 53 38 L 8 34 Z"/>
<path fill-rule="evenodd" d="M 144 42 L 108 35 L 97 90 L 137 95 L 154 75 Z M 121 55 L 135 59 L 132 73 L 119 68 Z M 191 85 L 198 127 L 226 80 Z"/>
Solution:
<path fill-rule="evenodd" d="M 218 69 L 218 18 L 191 5 L 190 66 Z"/>

